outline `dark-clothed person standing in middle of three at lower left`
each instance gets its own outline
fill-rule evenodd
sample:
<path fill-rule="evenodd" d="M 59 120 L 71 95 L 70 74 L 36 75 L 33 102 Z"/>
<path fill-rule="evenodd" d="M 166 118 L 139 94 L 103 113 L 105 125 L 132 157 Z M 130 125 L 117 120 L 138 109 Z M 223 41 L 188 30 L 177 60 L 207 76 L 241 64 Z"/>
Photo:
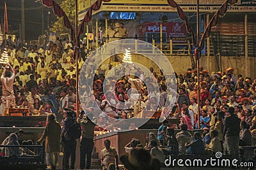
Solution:
<path fill-rule="evenodd" d="M 76 162 L 76 139 L 72 138 L 70 129 L 76 122 L 73 118 L 73 112 L 67 111 L 67 119 L 64 120 L 61 131 L 61 142 L 63 143 L 63 170 L 69 169 L 68 159 L 71 155 L 70 169 L 75 169 Z"/>

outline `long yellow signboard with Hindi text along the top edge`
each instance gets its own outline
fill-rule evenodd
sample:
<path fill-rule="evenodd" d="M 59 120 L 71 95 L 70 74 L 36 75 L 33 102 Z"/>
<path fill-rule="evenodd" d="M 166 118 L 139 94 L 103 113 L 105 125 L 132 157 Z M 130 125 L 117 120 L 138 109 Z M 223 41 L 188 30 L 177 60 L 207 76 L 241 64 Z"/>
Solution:
<path fill-rule="evenodd" d="M 185 12 L 196 12 L 196 0 L 176 0 L 182 10 Z M 200 0 L 200 12 L 215 12 L 225 1 Z M 95 0 L 79 0 L 79 19 L 81 19 L 86 10 L 95 3 Z M 177 12 L 172 8 L 167 0 L 112 0 L 103 2 L 100 10 L 93 11 L 93 14 L 100 11 L 150 11 L 150 12 Z M 238 0 L 234 6 L 228 6 L 228 12 L 255 12 L 256 0 Z"/>

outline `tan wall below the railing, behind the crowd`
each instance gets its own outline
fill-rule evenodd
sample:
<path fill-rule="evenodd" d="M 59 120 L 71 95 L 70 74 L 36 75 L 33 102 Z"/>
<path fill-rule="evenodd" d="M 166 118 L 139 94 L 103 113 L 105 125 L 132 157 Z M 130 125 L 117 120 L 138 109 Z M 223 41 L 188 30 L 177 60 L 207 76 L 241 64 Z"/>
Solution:
<path fill-rule="evenodd" d="M 156 55 L 157 57 L 157 55 Z M 186 55 L 166 55 L 168 58 L 170 64 L 173 67 L 173 70 L 177 74 L 184 74 L 186 73 L 188 68 L 191 68 L 191 59 L 189 56 Z M 153 67 L 154 71 L 159 73 L 159 68 L 154 64 L 154 62 L 150 59 L 147 59 L 146 57 L 142 55 L 132 55 L 132 62 L 138 62 L 142 64 L 145 67 Z M 218 58 L 216 57 L 209 57 L 209 64 L 207 63 L 207 56 L 202 56 L 200 59 L 200 66 L 203 66 L 204 69 L 208 70 L 209 65 L 209 74 L 212 73 L 212 71 L 220 71 L 218 70 Z M 102 69 L 108 68 L 109 60 L 106 60 L 102 65 Z M 225 71 L 226 67 L 233 67 L 235 69 L 236 76 L 238 74 L 242 74 L 244 77 L 249 76 L 252 79 L 256 78 L 256 57 L 248 57 L 248 75 L 246 75 L 246 66 L 245 66 L 245 57 L 221 57 L 221 66 L 222 71 Z"/>

